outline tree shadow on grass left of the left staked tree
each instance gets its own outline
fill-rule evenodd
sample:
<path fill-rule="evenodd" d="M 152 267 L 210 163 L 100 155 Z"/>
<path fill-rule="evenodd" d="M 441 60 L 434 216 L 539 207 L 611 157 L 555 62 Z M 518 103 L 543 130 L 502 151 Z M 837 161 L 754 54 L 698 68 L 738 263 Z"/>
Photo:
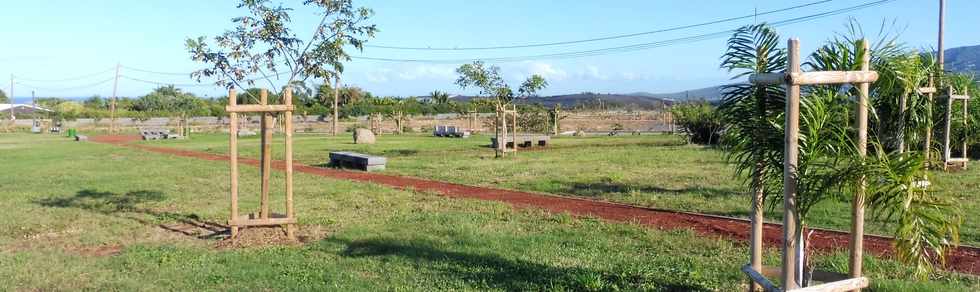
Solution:
<path fill-rule="evenodd" d="M 227 226 L 203 221 L 196 214 L 161 212 L 139 207 L 143 203 L 165 199 L 166 196 L 159 191 L 140 190 L 118 194 L 86 189 L 78 191 L 72 197 L 45 198 L 35 200 L 34 203 L 44 207 L 75 208 L 129 219 L 198 239 L 220 239 L 229 235 Z M 168 222 L 177 222 L 177 224 L 168 224 Z"/>

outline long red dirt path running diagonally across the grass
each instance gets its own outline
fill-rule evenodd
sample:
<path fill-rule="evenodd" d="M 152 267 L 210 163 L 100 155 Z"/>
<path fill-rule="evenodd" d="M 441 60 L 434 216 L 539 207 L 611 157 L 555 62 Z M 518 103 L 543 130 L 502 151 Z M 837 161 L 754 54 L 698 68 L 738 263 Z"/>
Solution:
<path fill-rule="evenodd" d="M 137 140 L 140 140 L 139 136 L 99 136 L 92 138 L 92 141 L 95 142 L 135 147 L 157 153 L 212 161 L 228 160 L 228 156 L 223 155 L 129 143 Z M 239 163 L 253 166 L 259 165 L 257 159 L 251 158 L 239 158 Z M 277 170 L 284 170 L 285 163 L 283 161 L 274 161 L 272 167 Z M 322 177 L 371 182 L 399 189 L 429 191 L 453 198 L 474 198 L 506 202 L 518 208 L 538 208 L 555 213 L 569 213 L 577 216 L 597 217 L 610 221 L 637 223 L 659 229 L 693 229 L 705 235 L 721 236 L 742 241 L 749 239 L 751 228 L 747 220 L 713 215 L 657 210 L 581 198 L 475 187 L 389 174 L 320 168 L 299 163 L 294 163 L 293 167 L 296 171 Z M 766 224 L 764 228 L 766 245 L 781 245 L 782 234 L 781 225 Z M 848 246 L 849 237 L 847 232 L 814 230 L 810 244 L 812 247 L 821 251 L 843 250 Z M 866 235 L 864 237 L 864 249 L 869 253 L 882 256 L 891 256 L 894 252 L 891 238 L 873 235 Z M 961 273 L 980 275 L 980 248 L 963 246 L 951 251 L 947 256 L 946 268 Z"/>

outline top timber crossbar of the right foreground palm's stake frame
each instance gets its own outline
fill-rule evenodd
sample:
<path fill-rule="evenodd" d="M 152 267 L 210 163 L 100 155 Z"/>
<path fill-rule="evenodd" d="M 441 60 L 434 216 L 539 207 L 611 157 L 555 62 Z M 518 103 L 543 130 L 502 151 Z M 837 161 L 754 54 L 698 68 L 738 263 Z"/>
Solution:
<path fill-rule="evenodd" d="M 757 73 L 749 82 L 758 85 L 826 85 L 841 83 L 871 83 L 878 80 L 875 71 L 822 71 L 793 73 Z"/>

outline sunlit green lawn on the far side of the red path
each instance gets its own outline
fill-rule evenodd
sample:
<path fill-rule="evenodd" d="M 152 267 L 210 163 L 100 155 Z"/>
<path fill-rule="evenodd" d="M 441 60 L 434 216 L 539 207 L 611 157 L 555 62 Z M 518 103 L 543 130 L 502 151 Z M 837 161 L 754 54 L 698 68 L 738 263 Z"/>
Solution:
<path fill-rule="evenodd" d="M 219 154 L 228 151 L 227 134 L 143 143 Z M 281 159 L 282 145 L 277 143 L 274 156 Z M 243 157 L 257 158 L 258 144 L 257 137 L 243 138 L 239 151 Z M 310 165 L 326 163 L 330 151 L 357 151 L 388 157 L 386 172 L 392 174 L 716 215 L 747 217 L 749 211 L 746 188 L 733 177 L 723 153 L 684 145 L 679 136 L 559 137 L 547 150 L 518 152 L 506 159 L 493 158 L 493 150 L 487 148 L 488 136 L 383 135 L 377 144 L 356 145 L 348 134 L 300 134 L 294 137 L 294 144 L 295 159 Z M 962 243 L 980 245 L 980 169 L 936 172 L 932 179 L 934 190 L 960 202 Z M 766 217 L 778 222 L 780 210 Z M 808 219 L 815 227 L 847 230 L 849 203 L 824 203 Z M 894 231 L 894 226 L 874 217 L 868 218 L 866 228 L 880 235 Z"/>

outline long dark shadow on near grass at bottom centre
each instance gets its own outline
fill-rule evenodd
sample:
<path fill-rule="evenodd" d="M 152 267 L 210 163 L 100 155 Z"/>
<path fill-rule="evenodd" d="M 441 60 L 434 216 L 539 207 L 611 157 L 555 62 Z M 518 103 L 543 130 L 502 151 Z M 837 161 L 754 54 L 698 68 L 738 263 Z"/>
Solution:
<path fill-rule="evenodd" d="M 426 269 L 438 270 L 451 279 L 478 283 L 507 291 L 710 291 L 690 279 L 663 275 L 636 267 L 621 271 L 599 271 L 579 267 L 556 267 L 521 259 L 508 259 L 495 254 L 448 251 L 426 241 L 405 241 L 395 238 L 374 238 L 345 241 L 324 240 L 346 246 L 342 256 L 399 257 Z M 696 281 L 695 281 L 696 282 Z"/>

